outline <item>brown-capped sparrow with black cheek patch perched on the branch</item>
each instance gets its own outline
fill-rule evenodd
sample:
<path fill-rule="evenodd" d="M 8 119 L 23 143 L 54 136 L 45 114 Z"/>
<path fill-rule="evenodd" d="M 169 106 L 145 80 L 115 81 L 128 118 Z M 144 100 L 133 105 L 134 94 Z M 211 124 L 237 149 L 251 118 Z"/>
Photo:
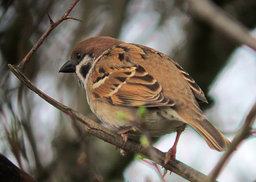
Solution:
<path fill-rule="evenodd" d="M 208 146 L 226 151 L 230 141 L 204 116 L 208 103 L 193 78 L 169 56 L 134 43 L 95 36 L 80 42 L 59 72 L 75 73 L 91 111 L 124 138 L 177 132 L 165 164 L 176 157 L 182 131 L 190 125 Z M 146 108 L 142 118 L 138 109 Z"/>

